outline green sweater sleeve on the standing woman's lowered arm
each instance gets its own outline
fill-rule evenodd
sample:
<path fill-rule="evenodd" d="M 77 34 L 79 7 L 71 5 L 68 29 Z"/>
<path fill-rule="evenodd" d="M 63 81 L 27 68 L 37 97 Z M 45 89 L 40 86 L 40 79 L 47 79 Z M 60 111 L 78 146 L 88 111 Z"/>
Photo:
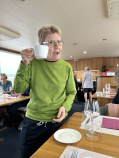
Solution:
<path fill-rule="evenodd" d="M 76 87 L 75 87 L 72 67 L 70 67 L 68 74 L 69 74 L 69 77 L 66 83 L 66 100 L 63 103 L 63 106 L 66 109 L 66 112 L 68 112 L 71 109 L 72 103 L 76 95 Z"/>

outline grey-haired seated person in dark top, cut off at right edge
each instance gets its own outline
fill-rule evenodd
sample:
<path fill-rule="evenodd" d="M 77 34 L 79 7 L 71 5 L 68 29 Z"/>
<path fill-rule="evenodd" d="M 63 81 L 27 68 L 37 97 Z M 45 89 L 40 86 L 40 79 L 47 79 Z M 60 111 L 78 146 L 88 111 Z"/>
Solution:
<path fill-rule="evenodd" d="M 116 73 L 115 73 L 115 83 L 116 85 L 119 87 L 119 69 L 117 69 Z M 116 94 L 116 96 L 114 97 L 114 99 L 112 100 L 112 104 L 119 104 L 119 88 L 118 88 L 118 92 Z M 100 114 L 101 115 L 107 115 L 107 106 L 108 104 L 106 104 L 104 107 L 100 107 Z"/>

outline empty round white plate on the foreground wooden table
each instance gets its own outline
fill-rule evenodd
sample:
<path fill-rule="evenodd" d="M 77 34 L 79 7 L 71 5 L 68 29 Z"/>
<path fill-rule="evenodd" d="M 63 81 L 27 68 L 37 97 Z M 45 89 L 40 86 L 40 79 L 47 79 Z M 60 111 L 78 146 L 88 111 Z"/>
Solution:
<path fill-rule="evenodd" d="M 74 129 L 65 128 L 56 131 L 54 138 L 61 143 L 75 143 L 81 139 L 81 134 Z"/>

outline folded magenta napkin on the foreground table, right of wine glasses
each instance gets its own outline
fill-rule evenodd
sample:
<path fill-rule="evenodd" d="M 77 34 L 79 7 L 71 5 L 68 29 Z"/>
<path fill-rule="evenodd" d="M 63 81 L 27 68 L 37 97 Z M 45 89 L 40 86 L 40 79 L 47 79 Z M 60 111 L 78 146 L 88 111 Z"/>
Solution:
<path fill-rule="evenodd" d="M 103 117 L 102 127 L 103 128 L 111 128 L 111 129 L 119 129 L 119 120 Z"/>

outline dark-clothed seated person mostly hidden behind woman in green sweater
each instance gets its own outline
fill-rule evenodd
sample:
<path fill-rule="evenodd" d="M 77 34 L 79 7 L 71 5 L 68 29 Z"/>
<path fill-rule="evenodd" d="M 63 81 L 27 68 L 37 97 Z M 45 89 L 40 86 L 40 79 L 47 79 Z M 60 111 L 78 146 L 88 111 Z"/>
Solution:
<path fill-rule="evenodd" d="M 14 93 L 14 94 L 12 94 L 12 96 L 19 96 L 19 95 L 29 96 L 29 93 L 30 93 L 30 88 L 27 88 L 24 91 L 24 93 Z M 8 114 L 14 120 L 15 128 L 17 128 L 18 130 L 21 130 L 21 128 L 22 128 L 23 118 L 19 115 L 19 113 L 17 112 L 17 109 L 20 107 L 26 107 L 28 102 L 29 102 L 29 99 L 20 101 L 17 103 L 13 103 L 13 104 L 9 105 L 7 108 Z"/>

